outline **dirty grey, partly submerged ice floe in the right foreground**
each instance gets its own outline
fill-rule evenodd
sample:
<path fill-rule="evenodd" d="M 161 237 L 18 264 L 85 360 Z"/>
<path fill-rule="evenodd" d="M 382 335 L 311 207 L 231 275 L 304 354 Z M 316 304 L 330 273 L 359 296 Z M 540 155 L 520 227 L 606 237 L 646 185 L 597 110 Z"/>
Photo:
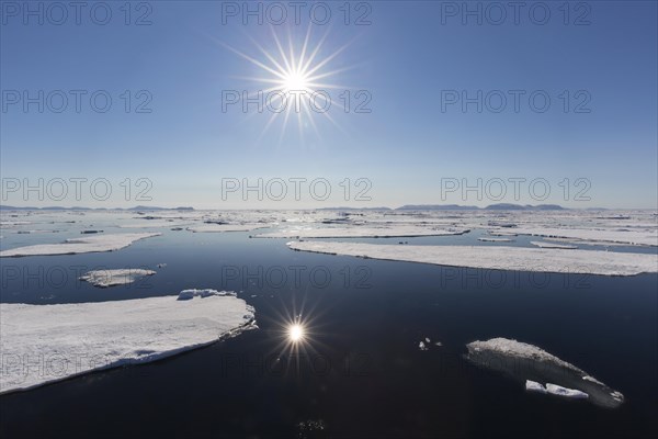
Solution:
<path fill-rule="evenodd" d="M 536 346 L 507 338 L 492 338 L 473 341 L 466 348 L 466 359 L 525 382 L 527 391 L 571 398 L 587 397 L 595 405 L 611 408 L 624 402 L 624 395 L 620 392 Z M 546 386 L 541 383 L 546 383 Z"/>

